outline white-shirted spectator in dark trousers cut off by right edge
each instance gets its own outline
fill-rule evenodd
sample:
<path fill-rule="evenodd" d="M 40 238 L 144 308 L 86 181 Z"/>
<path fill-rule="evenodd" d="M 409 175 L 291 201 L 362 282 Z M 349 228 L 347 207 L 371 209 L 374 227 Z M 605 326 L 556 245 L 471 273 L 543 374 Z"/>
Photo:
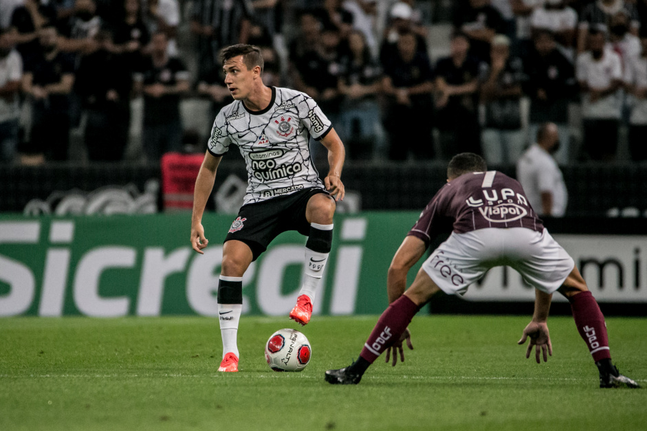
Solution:
<path fill-rule="evenodd" d="M 635 162 L 647 160 L 647 32 L 641 35 L 641 54 L 630 58 L 624 70 L 631 113 L 629 152 Z"/>

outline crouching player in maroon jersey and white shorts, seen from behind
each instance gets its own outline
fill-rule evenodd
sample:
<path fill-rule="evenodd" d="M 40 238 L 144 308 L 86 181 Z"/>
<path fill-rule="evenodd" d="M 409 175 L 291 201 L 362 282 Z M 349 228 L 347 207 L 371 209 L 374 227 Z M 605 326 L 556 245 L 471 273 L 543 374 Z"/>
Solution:
<path fill-rule="evenodd" d="M 386 362 L 397 354 L 404 361 L 402 342 L 413 349 L 407 326 L 415 313 L 441 290 L 464 294 L 485 272 L 507 265 L 535 287 L 532 320 L 518 344 L 530 338 L 540 362 L 552 355 L 547 326 L 554 292 L 571 303 L 575 325 L 589 347 L 600 372 L 600 387 L 638 388 L 611 363 L 604 316 L 586 287 L 573 258 L 551 237 L 531 208 L 518 181 L 496 170 L 473 153 L 454 156 L 447 168 L 447 184 L 428 203 L 409 231 L 388 269 L 387 290 L 391 305 L 382 313 L 357 361 L 346 368 L 329 370 L 331 384 L 358 384 L 367 368 L 386 351 Z M 406 274 L 427 250 L 443 227 L 452 225 L 449 239 L 424 262 L 413 284 L 405 291 Z"/>

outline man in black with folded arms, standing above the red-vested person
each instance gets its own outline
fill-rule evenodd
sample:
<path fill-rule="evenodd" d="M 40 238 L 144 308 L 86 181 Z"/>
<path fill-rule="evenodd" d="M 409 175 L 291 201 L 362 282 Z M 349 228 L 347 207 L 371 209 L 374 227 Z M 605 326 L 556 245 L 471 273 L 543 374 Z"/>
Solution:
<path fill-rule="evenodd" d="M 144 59 L 136 80 L 144 91 L 143 144 L 146 159 L 155 162 L 168 151 L 182 149 L 182 119 L 179 103 L 188 92 L 189 73 L 178 58 L 166 52 L 168 38 L 156 32 L 151 38 L 151 56 Z"/>

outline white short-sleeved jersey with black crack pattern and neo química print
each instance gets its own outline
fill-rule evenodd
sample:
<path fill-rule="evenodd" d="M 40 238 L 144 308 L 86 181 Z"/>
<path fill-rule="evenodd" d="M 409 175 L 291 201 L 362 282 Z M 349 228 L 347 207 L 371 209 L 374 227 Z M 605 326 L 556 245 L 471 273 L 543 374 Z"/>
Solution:
<path fill-rule="evenodd" d="M 272 100 L 261 111 L 249 111 L 241 100 L 216 116 L 208 140 L 215 156 L 236 144 L 245 159 L 248 188 L 243 205 L 323 188 L 309 150 L 309 138 L 321 140 L 332 129 L 328 118 L 307 94 L 272 87 Z"/>

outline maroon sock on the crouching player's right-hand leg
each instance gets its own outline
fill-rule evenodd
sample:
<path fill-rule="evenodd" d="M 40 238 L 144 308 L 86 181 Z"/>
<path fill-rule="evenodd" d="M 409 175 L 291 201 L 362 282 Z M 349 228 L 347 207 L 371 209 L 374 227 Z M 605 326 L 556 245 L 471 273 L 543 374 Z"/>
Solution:
<path fill-rule="evenodd" d="M 603 359 L 611 359 L 604 316 L 591 292 L 584 291 L 572 296 L 569 301 L 571 302 L 575 326 L 578 327 L 580 336 L 586 342 L 586 346 L 589 346 L 593 360 L 598 362 Z"/>

